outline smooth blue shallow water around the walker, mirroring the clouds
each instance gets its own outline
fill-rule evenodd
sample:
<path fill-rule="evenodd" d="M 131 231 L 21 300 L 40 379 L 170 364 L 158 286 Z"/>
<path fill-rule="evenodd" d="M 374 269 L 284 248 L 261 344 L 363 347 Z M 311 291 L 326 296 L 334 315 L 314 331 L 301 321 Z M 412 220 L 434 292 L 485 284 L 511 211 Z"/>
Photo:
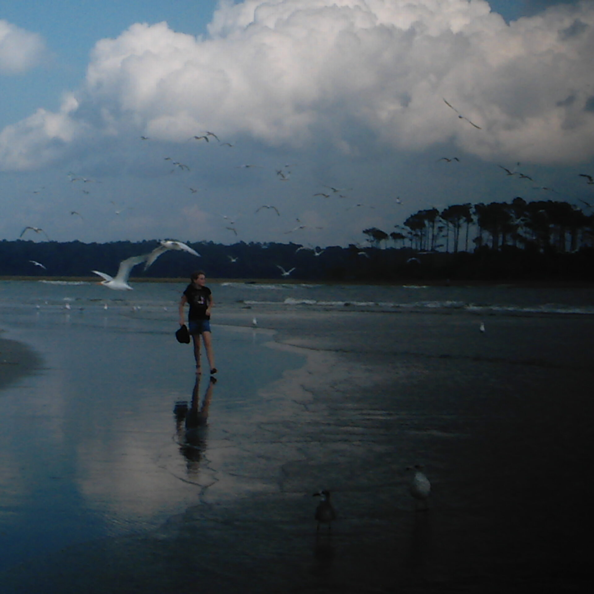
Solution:
<path fill-rule="evenodd" d="M 4 336 L 43 359 L 0 391 L 0 570 L 156 527 L 197 503 L 213 472 L 188 458 L 192 447 L 173 413 L 176 403 L 191 405 L 196 381 L 191 346 L 173 336 L 176 313 L 112 303 L 80 311 L 75 301 L 67 311 L 45 305 L 59 301 L 49 293 L 27 298 L 42 299 L 43 309 L 5 304 L 0 313 Z M 208 410 L 216 424 L 203 439 L 216 444 L 233 419 L 266 414 L 273 405 L 258 389 L 302 358 L 263 346 L 265 333 L 213 324 L 213 340 L 220 371 Z M 208 375 L 201 384 L 203 402 Z"/>

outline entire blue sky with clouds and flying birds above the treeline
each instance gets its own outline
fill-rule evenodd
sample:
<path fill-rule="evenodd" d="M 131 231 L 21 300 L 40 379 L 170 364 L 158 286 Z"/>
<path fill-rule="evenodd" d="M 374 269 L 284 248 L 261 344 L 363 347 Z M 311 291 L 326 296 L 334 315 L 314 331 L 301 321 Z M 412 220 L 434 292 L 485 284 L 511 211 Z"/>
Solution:
<path fill-rule="evenodd" d="M 592 0 L 0 0 L 0 239 L 325 247 L 450 204 L 591 213 L 592 56 Z"/>

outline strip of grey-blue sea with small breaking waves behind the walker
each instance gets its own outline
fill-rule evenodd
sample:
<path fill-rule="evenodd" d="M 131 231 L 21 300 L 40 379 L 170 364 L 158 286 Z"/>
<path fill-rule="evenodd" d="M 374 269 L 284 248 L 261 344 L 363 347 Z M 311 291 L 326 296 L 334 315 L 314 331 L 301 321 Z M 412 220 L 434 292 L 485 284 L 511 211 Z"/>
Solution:
<path fill-rule="evenodd" d="M 110 291 L 87 282 L 0 282 L 0 311 L 22 307 L 137 307 L 175 310 L 186 283 L 132 283 L 133 291 Z M 210 284 L 210 283 L 209 283 Z M 594 287 L 324 285 L 313 283 L 211 283 L 216 302 L 227 308 L 286 305 L 307 310 L 432 311 L 490 314 L 594 314 Z M 175 315 L 173 315 L 175 319 Z"/>

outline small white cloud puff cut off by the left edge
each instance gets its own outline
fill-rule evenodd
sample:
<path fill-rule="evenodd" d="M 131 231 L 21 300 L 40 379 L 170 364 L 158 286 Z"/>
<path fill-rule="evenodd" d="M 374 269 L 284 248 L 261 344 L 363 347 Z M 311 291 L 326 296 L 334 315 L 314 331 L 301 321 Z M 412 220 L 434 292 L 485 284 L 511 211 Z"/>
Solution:
<path fill-rule="evenodd" d="M 18 74 L 34 68 L 44 53 L 45 43 L 40 35 L 0 19 L 0 74 Z"/>

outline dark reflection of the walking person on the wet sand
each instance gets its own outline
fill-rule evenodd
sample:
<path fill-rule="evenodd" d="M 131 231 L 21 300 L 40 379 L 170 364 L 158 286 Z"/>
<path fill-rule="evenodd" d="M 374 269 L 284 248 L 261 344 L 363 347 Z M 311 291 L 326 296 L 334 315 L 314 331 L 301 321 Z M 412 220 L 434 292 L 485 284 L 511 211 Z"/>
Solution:
<path fill-rule="evenodd" d="M 177 402 L 175 409 L 173 409 L 179 451 L 186 459 L 188 474 L 194 475 L 198 472 L 200 459 L 204 450 L 206 450 L 208 409 L 213 398 L 214 384 L 216 383 L 216 378 L 211 375 L 202 405 L 200 405 L 200 375 L 197 375 L 192 390 L 190 407 L 188 408 L 186 402 Z"/>

